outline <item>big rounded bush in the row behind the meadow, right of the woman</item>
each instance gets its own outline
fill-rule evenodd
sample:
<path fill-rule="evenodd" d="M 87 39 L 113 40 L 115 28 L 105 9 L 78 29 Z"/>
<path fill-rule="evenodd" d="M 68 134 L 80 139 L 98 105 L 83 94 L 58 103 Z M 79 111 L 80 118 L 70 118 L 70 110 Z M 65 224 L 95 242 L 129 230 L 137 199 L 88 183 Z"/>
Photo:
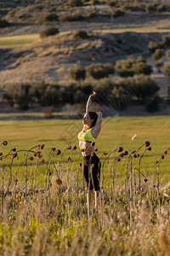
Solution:
<path fill-rule="evenodd" d="M 133 78 L 122 79 L 120 84 L 125 84 L 129 90 L 133 92 L 134 99 L 137 98 L 139 101 L 149 96 L 154 96 L 159 90 L 156 82 L 144 75 L 138 75 Z"/>

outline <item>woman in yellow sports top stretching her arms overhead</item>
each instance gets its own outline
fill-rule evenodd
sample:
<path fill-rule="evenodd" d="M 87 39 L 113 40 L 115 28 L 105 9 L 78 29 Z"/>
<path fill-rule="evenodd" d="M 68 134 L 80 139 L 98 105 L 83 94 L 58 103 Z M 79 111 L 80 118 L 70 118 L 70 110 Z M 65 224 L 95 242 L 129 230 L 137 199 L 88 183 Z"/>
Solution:
<path fill-rule="evenodd" d="M 95 191 L 95 207 L 99 197 L 100 161 L 94 153 L 95 140 L 101 130 L 102 113 L 92 111 L 92 98 L 90 95 L 86 106 L 86 113 L 82 119 L 82 131 L 78 134 L 79 147 L 82 150 L 82 172 L 89 190 L 88 207 L 93 204 L 93 191 Z"/>

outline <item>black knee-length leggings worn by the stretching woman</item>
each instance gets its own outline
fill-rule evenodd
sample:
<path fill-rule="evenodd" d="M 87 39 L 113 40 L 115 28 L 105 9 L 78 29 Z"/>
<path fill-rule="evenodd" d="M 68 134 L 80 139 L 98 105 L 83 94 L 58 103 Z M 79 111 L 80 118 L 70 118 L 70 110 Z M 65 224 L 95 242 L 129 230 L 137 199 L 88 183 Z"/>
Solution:
<path fill-rule="evenodd" d="M 90 179 L 89 189 L 99 190 L 99 176 L 100 176 L 100 161 L 99 157 L 93 155 L 82 156 L 82 172 L 88 186 L 88 179 Z M 88 178 L 89 174 L 89 178 Z"/>

